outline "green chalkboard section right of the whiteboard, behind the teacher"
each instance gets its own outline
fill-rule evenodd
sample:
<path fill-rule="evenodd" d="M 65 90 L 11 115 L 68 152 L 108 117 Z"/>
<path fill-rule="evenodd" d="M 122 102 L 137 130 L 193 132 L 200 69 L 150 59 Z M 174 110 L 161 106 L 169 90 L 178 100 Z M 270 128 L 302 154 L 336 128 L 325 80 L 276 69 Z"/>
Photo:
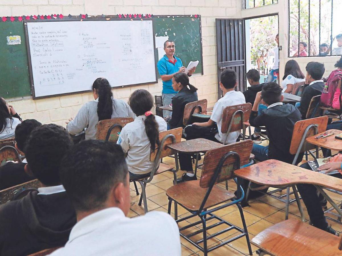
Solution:
<path fill-rule="evenodd" d="M 183 66 L 190 61 L 199 60 L 195 73 L 203 73 L 201 19 L 189 16 L 157 16 L 153 17 L 153 28 L 156 37 L 168 36 L 176 45 L 175 55 Z M 158 55 L 157 55 L 158 56 Z M 158 57 L 156 57 L 158 61 Z"/>

